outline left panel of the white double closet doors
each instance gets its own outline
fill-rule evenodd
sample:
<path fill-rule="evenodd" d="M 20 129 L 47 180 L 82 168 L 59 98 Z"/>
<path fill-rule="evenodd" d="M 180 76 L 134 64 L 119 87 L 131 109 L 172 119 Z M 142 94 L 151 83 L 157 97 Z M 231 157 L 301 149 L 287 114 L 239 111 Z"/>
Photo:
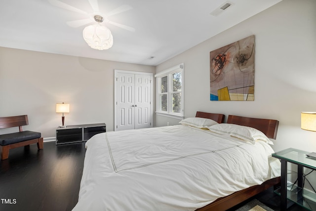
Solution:
<path fill-rule="evenodd" d="M 135 75 L 127 73 L 117 74 L 117 126 L 116 130 L 134 129 L 135 119 Z"/>

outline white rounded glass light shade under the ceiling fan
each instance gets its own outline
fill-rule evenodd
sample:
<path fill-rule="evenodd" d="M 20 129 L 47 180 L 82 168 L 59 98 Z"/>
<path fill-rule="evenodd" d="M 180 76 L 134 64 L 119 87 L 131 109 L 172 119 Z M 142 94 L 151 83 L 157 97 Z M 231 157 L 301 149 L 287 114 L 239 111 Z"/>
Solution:
<path fill-rule="evenodd" d="M 83 39 L 90 47 L 98 50 L 106 50 L 113 45 L 111 31 L 97 23 L 83 29 Z"/>

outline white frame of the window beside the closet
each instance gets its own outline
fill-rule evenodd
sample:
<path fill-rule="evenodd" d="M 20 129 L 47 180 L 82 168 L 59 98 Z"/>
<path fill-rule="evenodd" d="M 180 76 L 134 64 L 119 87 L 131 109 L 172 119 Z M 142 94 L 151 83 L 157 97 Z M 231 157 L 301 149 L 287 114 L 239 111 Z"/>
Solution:
<path fill-rule="evenodd" d="M 181 91 L 172 91 L 172 74 L 181 72 Z M 161 111 L 160 94 L 161 94 L 161 79 L 167 76 L 168 91 L 167 94 L 167 111 Z M 156 78 L 156 114 L 160 116 L 172 117 L 175 119 L 184 119 L 184 63 L 161 71 L 155 75 Z M 181 93 L 181 112 L 172 112 L 172 94 Z"/>

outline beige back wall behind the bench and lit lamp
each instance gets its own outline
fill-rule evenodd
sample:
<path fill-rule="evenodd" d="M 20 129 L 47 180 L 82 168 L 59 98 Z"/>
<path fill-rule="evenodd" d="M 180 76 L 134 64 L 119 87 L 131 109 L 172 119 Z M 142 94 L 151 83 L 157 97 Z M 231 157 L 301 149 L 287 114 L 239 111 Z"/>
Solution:
<path fill-rule="evenodd" d="M 24 130 L 47 139 L 61 125 L 55 105 L 65 102 L 66 125 L 106 123 L 114 130 L 115 69 L 155 73 L 153 66 L 0 47 L 0 116 L 27 114 Z"/>

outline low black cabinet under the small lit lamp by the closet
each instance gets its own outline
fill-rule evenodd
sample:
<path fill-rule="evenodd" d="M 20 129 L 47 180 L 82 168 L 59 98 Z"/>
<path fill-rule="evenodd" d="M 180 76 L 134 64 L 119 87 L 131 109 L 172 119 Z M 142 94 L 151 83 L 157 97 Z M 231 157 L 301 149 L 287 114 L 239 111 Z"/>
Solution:
<path fill-rule="evenodd" d="M 57 127 L 56 145 L 87 141 L 101 132 L 106 132 L 105 123 Z"/>

